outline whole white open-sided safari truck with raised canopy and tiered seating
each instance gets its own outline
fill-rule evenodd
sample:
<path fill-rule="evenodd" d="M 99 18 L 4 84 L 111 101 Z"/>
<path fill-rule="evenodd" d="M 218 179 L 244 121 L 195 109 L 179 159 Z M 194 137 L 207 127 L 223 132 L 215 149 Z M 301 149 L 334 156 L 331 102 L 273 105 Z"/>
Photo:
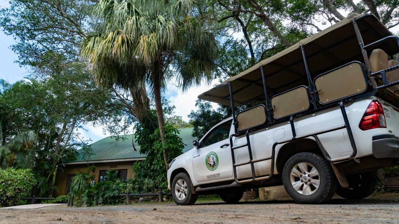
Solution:
<path fill-rule="evenodd" d="M 276 185 L 299 203 L 369 196 L 375 170 L 399 165 L 398 52 L 375 16 L 353 14 L 199 95 L 233 116 L 172 160 L 175 202 Z"/>

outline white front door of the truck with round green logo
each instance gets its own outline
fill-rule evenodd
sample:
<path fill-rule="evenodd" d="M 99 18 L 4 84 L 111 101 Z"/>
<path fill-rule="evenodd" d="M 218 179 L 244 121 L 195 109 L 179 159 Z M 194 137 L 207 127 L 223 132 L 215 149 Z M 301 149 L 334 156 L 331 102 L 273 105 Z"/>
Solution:
<path fill-rule="evenodd" d="M 193 169 L 198 183 L 233 177 L 231 122 L 228 120 L 213 127 L 201 140 L 201 147 L 194 150 Z"/>

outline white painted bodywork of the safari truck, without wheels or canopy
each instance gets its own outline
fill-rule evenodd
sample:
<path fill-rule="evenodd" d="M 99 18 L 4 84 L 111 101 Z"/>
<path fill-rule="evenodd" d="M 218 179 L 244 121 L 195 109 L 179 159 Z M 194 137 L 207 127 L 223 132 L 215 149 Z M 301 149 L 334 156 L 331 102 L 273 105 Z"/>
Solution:
<path fill-rule="evenodd" d="M 387 127 L 375 128 L 365 131 L 360 130 L 358 128 L 359 122 L 365 112 L 365 109 L 372 100 L 379 100 L 379 102 L 381 102 L 381 104 L 383 105 Z M 361 100 L 347 104 L 345 108 L 358 150 L 355 157 L 356 159 L 367 156 L 374 157 L 373 150 L 374 153 L 378 150 L 387 150 L 386 148 L 373 149 L 373 136 L 388 134 L 399 136 L 399 113 L 397 112 L 397 108 L 393 108 L 393 106 L 382 101 L 381 99 L 375 96 L 363 98 Z M 231 121 L 232 118 L 223 120 L 214 128 L 209 130 L 199 142 L 203 142 L 205 138 L 209 135 L 209 133 L 215 130 L 215 128 L 218 127 L 220 124 L 226 122 L 229 122 L 231 124 Z M 315 114 L 310 114 L 302 118 L 298 118 L 295 120 L 294 124 L 296 135 L 300 136 L 344 124 L 344 120 L 342 118 L 340 108 L 335 107 L 328 110 L 316 112 Z M 229 131 L 229 136 L 231 134 L 234 134 L 234 128 L 232 125 Z M 325 134 L 320 134 L 318 137 L 332 160 L 347 157 L 352 153 L 352 147 L 346 129 L 340 129 Z M 284 122 L 282 124 L 277 124 L 275 126 L 257 130 L 251 133 L 249 135 L 249 138 L 251 141 L 254 160 L 270 157 L 273 144 L 276 141 L 292 138 L 290 122 Z M 308 137 L 307 139 L 315 141 L 312 137 Z M 206 147 L 193 147 L 193 149 L 191 149 L 190 151 L 187 151 L 183 155 L 180 155 L 179 157 L 174 159 L 168 171 L 169 189 L 171 189 L 171 181 L 173 181 L 172 174 L 176 174 L 176 171 L 180 172 L 183 170 L 190 175 L 192 185 L 194 187 L 211 183 L 224 183 L 225 181 L 234 181 L 231 148 L 229 147 L 229 145 L 227 145 L 229 143 L 230 141 L 227 138 Z M 245 143 L 245 135 L 239 136 L 237 138 L 233 137 L 233 145 L 242 145 Z M 280 154 L 280 149 L 282 150 L 284 148 L 284 145 L 288 143 L 279 144 L 276 146 L 274 174 L 279 174 L 279 172 L 281 172 L 281 169 L 277 167 L 279 165 L 278 159 L 280 158 L 280 155 L 282 155 Z M 224 147 L 222 147 L 223 145 Z M 212 171 L 208 169 L 206 165 L 206 156 L 210 152 L 216 153 L 218 157 L 217 168 Z M 249 153 L 247 147 L 235 149 L 236 163 L 243 163 L 248 160 Z M 342 163 L 342 161 L 340 163 Z M 254 166 L 256 176 L 270 174 L 270 160 L 254 163 Z M 237 167 L 237 179 L 250 178 L 251 176 L 252 174 L 250 164 Z"/>

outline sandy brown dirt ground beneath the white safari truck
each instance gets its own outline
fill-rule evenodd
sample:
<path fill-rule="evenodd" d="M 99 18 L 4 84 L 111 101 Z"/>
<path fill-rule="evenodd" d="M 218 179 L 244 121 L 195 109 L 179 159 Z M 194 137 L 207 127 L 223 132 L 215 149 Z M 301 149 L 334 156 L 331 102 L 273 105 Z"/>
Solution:
<path fill-rule="evenodd" d="M 41 209 L 4 209 L 0 223 L 399 223 L 399 193 L 373 195 L 363 200 L 345 200 L 338 196 L 328 204 L 303 205 L 293 201 L 246 201 L 225 204 L 201 201 L 192 206 L 174 202 L 142 203 L 118 206 Z"/>

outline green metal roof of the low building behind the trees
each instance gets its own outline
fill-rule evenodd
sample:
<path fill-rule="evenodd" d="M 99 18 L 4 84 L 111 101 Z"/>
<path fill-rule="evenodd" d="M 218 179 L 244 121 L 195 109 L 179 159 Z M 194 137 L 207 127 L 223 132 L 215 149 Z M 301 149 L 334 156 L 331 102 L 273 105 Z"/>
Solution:
<path fill-rule="evenodd" d="M 180 138 L 182 138 L 183 143 L 186 146 L 183 149 L 183 152 L 186 152 L 193 147 L 193 141 L 196 139 L 191 136 L 193 128 L 181 128 Z M 102 140 L 96 141 L 92 143 L 91 155 L 89 160 L 83 160 L 83 155 L 81 153 L 77 154 L 78 159 L 65 161 L 65 163 L 73 163 L 73 162 L 82 162 L 82 161 L 96 161 L 96 160 L 108 160 L 108 159 L 133 159 L 133 158 L 142 158 L 146 157 L 146 155 L 140 154 L 138 151 L 140 150 L 140 146 L 134 142 L 134 147 L 136 147 L 137 151 L 134 151 L 132 146 L 132 135 L 123 136 L 125 140 L 115 140 L 115 138 L 107 137 Z"/>

